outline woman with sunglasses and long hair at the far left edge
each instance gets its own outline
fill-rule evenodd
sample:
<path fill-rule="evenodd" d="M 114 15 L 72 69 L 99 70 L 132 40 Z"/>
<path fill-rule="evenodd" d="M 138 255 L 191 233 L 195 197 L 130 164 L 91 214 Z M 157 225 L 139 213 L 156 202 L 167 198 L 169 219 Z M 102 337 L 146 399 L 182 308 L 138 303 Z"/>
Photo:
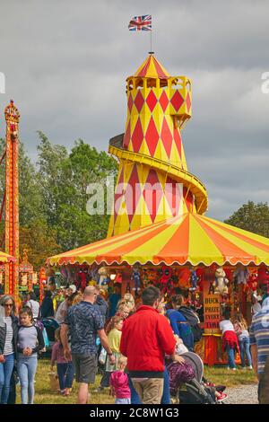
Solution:
<path fill-rule="evenodd" d="M 15 302 L 12 296 L 0 299 L 0 403 L 6 404 L 13 374 L 17 347 L 18 319 L 14 316 Z"/>

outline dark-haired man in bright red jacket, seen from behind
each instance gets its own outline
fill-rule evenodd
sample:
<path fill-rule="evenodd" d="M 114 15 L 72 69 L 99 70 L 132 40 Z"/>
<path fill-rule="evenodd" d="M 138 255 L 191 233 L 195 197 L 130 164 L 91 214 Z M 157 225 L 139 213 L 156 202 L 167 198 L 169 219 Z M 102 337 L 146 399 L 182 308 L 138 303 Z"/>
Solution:
<path fill-rule="evenodd" d="M 144 289 L 142 302 L 124 323 L 120 352 L 127 357 L 129 374 L 142 402 L 160 404 L 164 355 L 174 358 L 176 340 L 169 321 L 157 310 L 160 290 L 153 286 Z"/>

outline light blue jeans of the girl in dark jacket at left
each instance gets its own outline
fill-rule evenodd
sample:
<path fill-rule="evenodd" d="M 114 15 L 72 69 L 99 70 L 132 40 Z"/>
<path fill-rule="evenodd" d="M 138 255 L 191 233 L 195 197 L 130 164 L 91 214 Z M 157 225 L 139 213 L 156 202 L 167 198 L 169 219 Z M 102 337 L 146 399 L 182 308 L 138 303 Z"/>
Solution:
<path fill-rule="evenodd" d="M 38 367 L 38 356 L 19 356 L 18 374 L 21 383 L 22 404 L 33 404 L 35 394 L 35 374 Z"/>

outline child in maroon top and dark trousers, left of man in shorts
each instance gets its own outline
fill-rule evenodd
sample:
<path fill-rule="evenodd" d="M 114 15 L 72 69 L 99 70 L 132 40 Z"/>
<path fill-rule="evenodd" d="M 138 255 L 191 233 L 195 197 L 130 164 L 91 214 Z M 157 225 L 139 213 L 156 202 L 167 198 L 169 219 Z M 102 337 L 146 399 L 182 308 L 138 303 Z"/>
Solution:
<path fill-rule="evenodd" d="M 60 392 L 64 396 L 69 396 L 74 379 L 74 368 L 72 361 L 66 362 L 65 360 L 60 330 L 61 329 L 57 329 L 55 332 L 56 343 L 52 347 L 50 369 L 53 371 L 56 362 Z"/>

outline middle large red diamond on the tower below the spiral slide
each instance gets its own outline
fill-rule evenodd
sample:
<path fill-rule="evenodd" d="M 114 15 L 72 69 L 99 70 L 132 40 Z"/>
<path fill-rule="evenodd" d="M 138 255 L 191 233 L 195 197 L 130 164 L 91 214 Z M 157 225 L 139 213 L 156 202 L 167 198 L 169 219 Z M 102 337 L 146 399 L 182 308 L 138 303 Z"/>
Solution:
<path fill-rule="evenodd" d="M 153 223 L 155 221 L 157 211 L 160 206 L 161 198 L 163 195 L 161 183 L 158 179 L 158 176 L 155 170 L 150 170 L 146 183 L 150 184 L 153 188 L 151 190 L 147 189 L 147 187 L 143 189 L 143 198 L 149 210 L 149 213 L 152 218 L 152 223 Z M 156 183 L 158 183 L 157 186 L 156 186 Z M 146 194 L 146 192 L 148 192 L 148 194 Z"/>

